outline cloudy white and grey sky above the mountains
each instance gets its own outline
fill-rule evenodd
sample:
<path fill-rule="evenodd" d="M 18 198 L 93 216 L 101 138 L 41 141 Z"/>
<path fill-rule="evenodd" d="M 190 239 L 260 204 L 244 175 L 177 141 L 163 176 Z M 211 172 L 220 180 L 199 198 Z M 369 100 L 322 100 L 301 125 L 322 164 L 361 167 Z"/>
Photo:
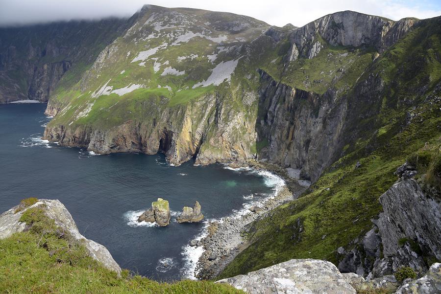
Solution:
<path fill-rule="evenodd" d="M 0 26 L 72 19 L 129 17 L 143 4 L 226 11 L 271 25 L 302 26 L 326 14 L 353 10 L 399 20 L 441 15 L 441 0 L 0 0 Z"/>

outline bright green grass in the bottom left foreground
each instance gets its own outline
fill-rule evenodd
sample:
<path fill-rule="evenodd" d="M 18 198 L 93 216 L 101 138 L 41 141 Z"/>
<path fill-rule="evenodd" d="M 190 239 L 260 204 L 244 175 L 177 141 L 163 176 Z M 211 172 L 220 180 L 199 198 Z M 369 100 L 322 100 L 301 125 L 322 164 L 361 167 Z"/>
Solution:
<path fill-rule="evenodd" d="M 21 221 L 32 224 L 31 230 L 0 240 L 0 293 L 243 293 L 210 281 L 158 283 L 127 270 L 119 277 L 89 257 L 41 207 L 26 210 Z"/>

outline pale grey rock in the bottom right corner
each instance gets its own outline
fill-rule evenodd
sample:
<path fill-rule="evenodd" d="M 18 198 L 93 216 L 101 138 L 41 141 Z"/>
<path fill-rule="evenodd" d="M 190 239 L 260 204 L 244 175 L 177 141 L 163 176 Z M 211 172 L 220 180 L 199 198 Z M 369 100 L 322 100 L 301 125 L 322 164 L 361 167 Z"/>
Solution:
<path fill-rule="evenodd" d="M 427 273 L 404 283 L 395 294 L 439 294 L 441 293 L 441 263 L 434 263 Z"/>

